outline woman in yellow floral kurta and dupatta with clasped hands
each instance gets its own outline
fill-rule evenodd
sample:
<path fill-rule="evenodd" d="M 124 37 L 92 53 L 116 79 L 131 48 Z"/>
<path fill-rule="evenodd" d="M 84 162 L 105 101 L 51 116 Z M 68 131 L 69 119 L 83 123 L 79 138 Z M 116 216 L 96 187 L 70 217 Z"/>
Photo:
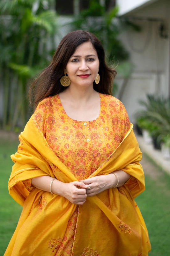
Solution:
<path fill-rule="evenodd" d="M 111 96 L 115 75 L 100 41 L 77 30 L 33 83 L 36 110 L 9 180 L 23 211 L 5 256 L 148 255 L 134 201 L 144 190 L 141 152 Z"/>

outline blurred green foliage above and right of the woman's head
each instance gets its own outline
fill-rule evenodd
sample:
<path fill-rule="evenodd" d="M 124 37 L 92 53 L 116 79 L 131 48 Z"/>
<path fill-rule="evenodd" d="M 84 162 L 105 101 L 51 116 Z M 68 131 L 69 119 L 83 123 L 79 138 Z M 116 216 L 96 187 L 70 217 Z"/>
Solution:
<path fill-rule="evenodd" d="M 118 97 L 121 100 L 133 65 L 129 61 L 129 53 L 122 44 L 120 34 L 129 26 L 133 30 L 137 31 L 137 29 L 133 23 L 117 18 L 117 14 L 118 6 L 107 8 L 107 5 L 101 5 L 100 1 L 91 0 L 89 1 L 88 9 L 81 11 L 78 16 L 75 16 L 71 25 L 72 30 L 87 30 L 100 39 L 108 64 L 116 68 L 118 74 L 123 78 L 121 89 L 114 82 L 112 90 L 113 95 L 119 91 Z"/>

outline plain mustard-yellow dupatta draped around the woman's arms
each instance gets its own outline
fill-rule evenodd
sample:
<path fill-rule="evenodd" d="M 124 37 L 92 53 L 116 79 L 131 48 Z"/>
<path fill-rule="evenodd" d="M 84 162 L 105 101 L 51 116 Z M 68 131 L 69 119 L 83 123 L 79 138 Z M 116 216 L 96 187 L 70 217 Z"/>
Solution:
<path fill-rule="evenodd" d="M 133 125 L 119 147 L 90 177 L 124 170 L 133 178 L 119 189 L 88 197 L 85 204 L 79 206 L 74 256 L 146 256 L 150 251 L 147 229 L 134 201 L 144 190 L 144 173 L 132 128 Z M 42 175 L 63 182 L 76 178 L 48 146 L 33 116 L 19 138 L 18 153 L 11 156 L 15 164 L 9 192 L 23 205 L 23 211 L 4 256 L 55 256 L 76 205 L 37 188 L 29 192 L 22 181 Z"/>

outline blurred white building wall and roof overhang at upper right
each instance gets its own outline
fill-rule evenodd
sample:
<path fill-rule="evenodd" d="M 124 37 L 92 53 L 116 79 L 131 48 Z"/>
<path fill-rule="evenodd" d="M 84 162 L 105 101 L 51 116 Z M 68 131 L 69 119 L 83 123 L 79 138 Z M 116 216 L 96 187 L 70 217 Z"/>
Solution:
<path fill-rule="evenodd" d="M 147 94 L 170 96 L 170 1 L 117 0 L 120 17 L 141 26 L 126 30 L 121 39 L 134 65 L 122 96 L 131 122 Z M 122 84 L 118 75 L 116 82 Z"/>

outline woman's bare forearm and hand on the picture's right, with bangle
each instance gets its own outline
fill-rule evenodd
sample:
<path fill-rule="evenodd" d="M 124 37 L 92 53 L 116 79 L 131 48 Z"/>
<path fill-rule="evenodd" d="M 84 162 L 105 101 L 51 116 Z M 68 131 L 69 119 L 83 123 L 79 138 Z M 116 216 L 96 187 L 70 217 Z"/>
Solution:
<path fill-rule="evenodd" d="M 80 180 L 84 184 L 90 185 L 92 188 L 91 190 L 87 190 L 87 196 L 97 195 L 108 188 L 121 187 L 130 178 L 130 175 L 122 170 L 115 171 L 114 173 L 117 176 L 113 173 L 109 173 L 106 175 L 95 176 L 86 180 Z"/>

